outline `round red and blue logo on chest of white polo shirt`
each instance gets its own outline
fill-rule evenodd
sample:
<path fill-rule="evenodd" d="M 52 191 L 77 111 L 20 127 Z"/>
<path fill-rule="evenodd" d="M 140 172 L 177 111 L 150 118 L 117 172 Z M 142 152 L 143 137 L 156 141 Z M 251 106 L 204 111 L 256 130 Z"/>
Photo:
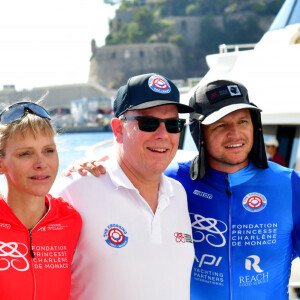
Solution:
<path fill-rule="evenodd" d="M 104 230 L 106 243 L 114 248 L 122 248 L 128 243 L 127 231 L 118 224 L 110 224 Z"/>

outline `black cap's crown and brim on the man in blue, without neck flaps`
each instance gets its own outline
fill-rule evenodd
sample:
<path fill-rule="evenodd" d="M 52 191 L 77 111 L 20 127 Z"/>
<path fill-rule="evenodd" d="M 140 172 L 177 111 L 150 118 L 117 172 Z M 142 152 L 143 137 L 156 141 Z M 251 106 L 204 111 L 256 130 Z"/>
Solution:
<path fill-rule="evenodd" d="M 231 80 L 216 80 L 202 85 L 200 83 L 189 104 L 195 110 L 191 119 L 198 119 L 203 125 L 213 124 L 241 109 L 261 111 L 249 102 L 246 87 Z"/>

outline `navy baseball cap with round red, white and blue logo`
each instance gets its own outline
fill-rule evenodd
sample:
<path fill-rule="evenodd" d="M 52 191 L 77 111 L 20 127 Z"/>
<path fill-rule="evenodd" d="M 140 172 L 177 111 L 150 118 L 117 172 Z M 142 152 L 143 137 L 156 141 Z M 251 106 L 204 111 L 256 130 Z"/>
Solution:
<path fill-rule="evenodd" d="M 147 109 L 175 104 L 179 113 L 193 112 L 193 108 L 179 103 L 179 91 L 169 79 L 155 73 L 129 78 L 121 86 L 114 101 L 114 114 L 119 117 L 128 110 Z"/>

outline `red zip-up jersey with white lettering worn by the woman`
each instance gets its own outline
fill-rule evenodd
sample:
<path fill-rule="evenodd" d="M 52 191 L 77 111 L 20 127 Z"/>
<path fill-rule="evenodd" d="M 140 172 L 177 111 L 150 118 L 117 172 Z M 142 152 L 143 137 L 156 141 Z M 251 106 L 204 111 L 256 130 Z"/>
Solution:
<path fill-rule="evenodd" d="M 82 221 L 62 198 L 45 197 L 48 212 L 31 230 L 0 196 L 0 299 L 63 300 Z"/>

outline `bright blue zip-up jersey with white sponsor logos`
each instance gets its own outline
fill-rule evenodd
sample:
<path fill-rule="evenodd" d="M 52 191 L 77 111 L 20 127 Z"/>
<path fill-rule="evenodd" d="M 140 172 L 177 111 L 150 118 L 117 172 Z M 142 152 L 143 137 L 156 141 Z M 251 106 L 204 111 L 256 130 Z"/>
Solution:
<path fill-rule="evenodd" d="M 293 253 L 300 253 L 298 173 L 250 163 L 234 174 L 209 169 L 192 181 L 189 168 L 173 164 L 166 175 L 188 195 L 196 253 L 191 300 L 288 299 Z"/>

